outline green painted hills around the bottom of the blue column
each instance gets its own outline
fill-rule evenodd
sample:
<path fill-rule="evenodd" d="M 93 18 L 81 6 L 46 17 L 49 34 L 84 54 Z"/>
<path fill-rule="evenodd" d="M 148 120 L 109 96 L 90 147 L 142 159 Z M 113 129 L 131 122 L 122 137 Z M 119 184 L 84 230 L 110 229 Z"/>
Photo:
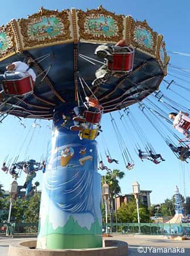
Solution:
<path fill-rule="evenodd" d="M 47 234 L 47 229 L 49 234 Z M 96 219 L 90 229 L 81 227 L 72 216 L 63 227 L 53 229 L 48 218 L 40 227 L 37 247 L 42 249 L 85 249 L 102 247 L 102 226 Z M 73 234 L 75 232 L 75 234 Z"/>

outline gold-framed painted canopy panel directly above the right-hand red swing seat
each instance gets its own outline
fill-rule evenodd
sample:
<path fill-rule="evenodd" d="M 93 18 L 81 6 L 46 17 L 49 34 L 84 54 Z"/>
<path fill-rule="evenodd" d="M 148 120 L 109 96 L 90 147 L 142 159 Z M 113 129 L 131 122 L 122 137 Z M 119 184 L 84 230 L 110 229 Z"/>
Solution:
<path fill-rule="evenodd" d="M 80 38 L 103 42 L 117 42 L 123 38 L 124 16 L 98 7 L 97 10 L 77 12 Z"/>

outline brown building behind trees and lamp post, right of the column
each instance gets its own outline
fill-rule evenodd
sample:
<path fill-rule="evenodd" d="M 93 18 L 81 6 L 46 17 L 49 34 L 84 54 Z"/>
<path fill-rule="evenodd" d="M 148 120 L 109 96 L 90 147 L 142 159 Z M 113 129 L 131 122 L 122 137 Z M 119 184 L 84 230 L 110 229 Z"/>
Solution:
<path fill-rule="evenodd" d="M 151 192 L 152 192 L 151 190 L 141 190 L 140 201 L 141 201 L 141 204 L 144 205 L 145 207 L 151 206 L 151 203 L 150 203 Z M 134 195 L 132 193 L 116 196 L 117 210 L 121 207 L 122 203 L 124 204 L 129 203 L 130 199 L 133 197 Z"/>

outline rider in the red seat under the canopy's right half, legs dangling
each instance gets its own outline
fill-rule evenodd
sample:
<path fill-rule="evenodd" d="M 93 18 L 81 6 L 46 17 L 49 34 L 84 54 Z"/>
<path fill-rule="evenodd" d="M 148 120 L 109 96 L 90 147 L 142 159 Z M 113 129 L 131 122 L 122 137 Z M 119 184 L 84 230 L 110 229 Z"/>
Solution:
<path fill-rule="evenodd" d="M 94 52 L 94 54 L 100 58 L 108 59 L 111 61 L 113 59 L 113 48 L 114 48 L 114 52 L 125 52 L 126 46 L 127 45 L 125 40 L 119 40 L 119 42 L 115 44 L 115 46 L 113 46 L 112 44 L 101 44 L 101 46 L 98 46 L 96 48 L 96 51 Z M 115 75 L 116 77 L 121 77 L 124 74 L 121 73 L 121 75 L 119 75 L 119 73 L 117 72 L 117 75 L 116 75 L 114 73 L 111 73 L 110 71 L 108 71 L 108 64 L 106 63 L 101 68 L 97 69 L 95 75 L 96 75 L 96 79 L 92 82 L 93 86 L 105 84 L 105 82 L 109 79 L 111 75 L 113 76 Z"/>

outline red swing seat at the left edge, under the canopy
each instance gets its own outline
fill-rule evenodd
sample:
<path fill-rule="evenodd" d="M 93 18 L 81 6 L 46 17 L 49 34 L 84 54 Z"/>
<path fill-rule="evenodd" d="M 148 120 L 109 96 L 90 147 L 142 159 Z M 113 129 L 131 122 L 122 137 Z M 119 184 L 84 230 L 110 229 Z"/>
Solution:
<path fill-rule="evenodd" d="M 34 89 L 34 81 L 31 76 L 22 77 L 19 80 L 3 80 L 2 88 L 9 96 L 24 96 Z"/>

